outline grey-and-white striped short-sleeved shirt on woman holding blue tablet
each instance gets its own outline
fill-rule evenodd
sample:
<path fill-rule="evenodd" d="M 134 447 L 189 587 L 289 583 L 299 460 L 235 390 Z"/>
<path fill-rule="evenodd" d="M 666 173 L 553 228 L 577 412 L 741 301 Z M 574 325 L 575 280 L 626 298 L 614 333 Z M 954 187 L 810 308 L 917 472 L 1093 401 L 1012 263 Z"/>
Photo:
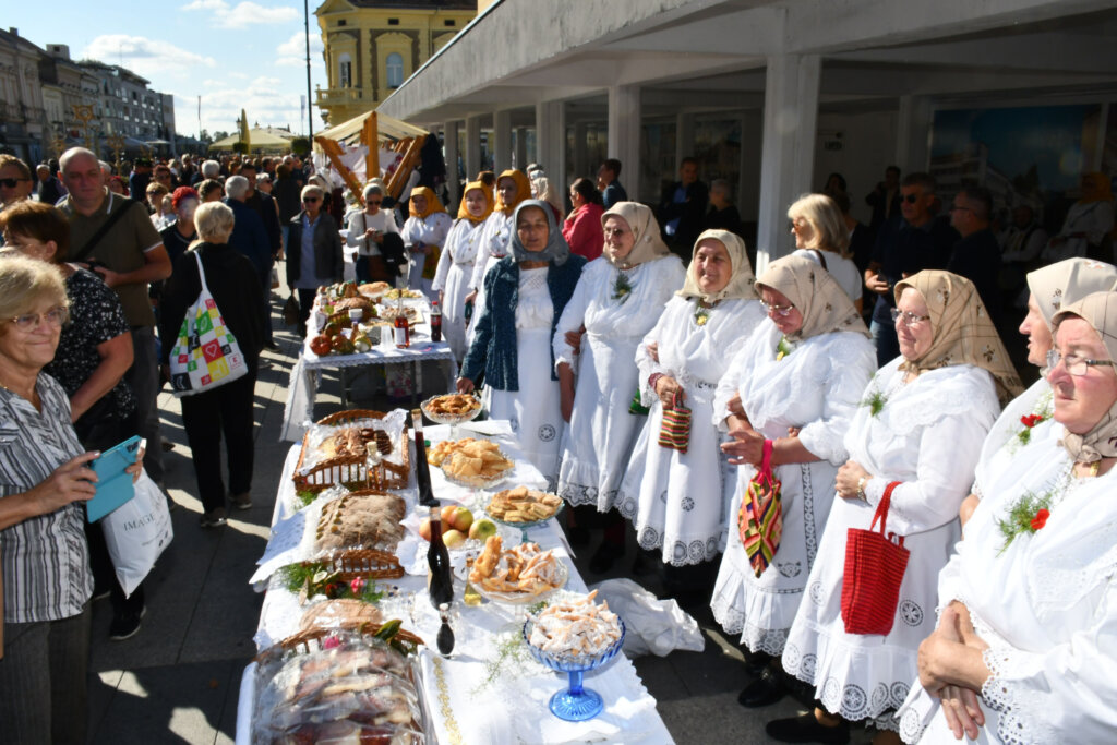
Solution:
<path fill-rule="evenodd" d="M 41 484 L 85 451 L 63 386 L 39 373 L 36 390 L 42 413 L 0 389 L 0 499 Z M 0 531 L 6 622 L 55 621 L 82 612 L 93 594 L 84 519 L 77 502 Z"/>

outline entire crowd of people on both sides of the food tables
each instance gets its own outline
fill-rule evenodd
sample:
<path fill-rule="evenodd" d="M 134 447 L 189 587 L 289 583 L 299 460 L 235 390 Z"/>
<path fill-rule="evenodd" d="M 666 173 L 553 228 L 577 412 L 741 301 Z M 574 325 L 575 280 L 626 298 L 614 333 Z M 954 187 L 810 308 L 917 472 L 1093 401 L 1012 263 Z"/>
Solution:
<path fill-rule="evenodd" d="M 0 155 L 0 719 L 80 739 L 84 717 L 50 711 L 85 706 L 71 662 L 90 596 L 111 594 L 114 639 L 140 629 L 142 588 L 116 584 L 80 503 L 90 453 L 132 433 L 162 486 L 155 399 L 202 285 L 249 369 L 182 399 L 201 525 L 218 527 L 252 504 L 275 261 L 305 329 L 347 245 L 360 280 L 440 304 L 458 391 L 510 421 L 569 503 L 572 542 L 603 527 L 591 570 L 631 529 L 633 574 L 739 634 L 741 705 L 809 687 L 814 710 L 770 722 L 773 738 L 842 743 L 855 723 L 882 743 L 1111 735 L 1108 180 L 1083 178 L 1049 237 L 1023 207 L 999 231 L 977 187 L 946 219 L 935 180 L 898 169 L 861 225 L 831 174 L 787 206 L 795 250 L 756 276 L 729 184 L 698 172 L 684 160 L 655 206 L 628 199 L 614 160 L 569 192 L 534 164 L 483 172 L 451 218 L 433 189 L 393 204 L 379 179 L 346 204 L 294 156 L 137 161 L 124 179 L 84 149 L 34 176 Z M 1027 391 L 1004 344 L 1021 316 Z M 859 553 L 880 542 L 898 573 Z"/>

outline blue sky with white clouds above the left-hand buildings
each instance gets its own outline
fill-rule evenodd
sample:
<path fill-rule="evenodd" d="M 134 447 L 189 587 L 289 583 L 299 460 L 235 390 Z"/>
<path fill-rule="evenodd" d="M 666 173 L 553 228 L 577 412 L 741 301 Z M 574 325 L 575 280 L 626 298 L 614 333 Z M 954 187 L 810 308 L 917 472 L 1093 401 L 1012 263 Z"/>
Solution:
<path fill-rule="evenodd" d="M 9 2 L 0 27 L 45 48 L 69 45 L 83 57 L 122 65 L 151 80 L 151 87 L 174 94 L 175 130 L 210 134 L 232 132 L 244 108 L 251 124 L 306 131 L 299 96 L 306 96 L 303 3 L 181 0 L 149 2 L 109 0 L 94 10 L 87 0 Z M 326 85 L 322 35 L 314 18 L 321 0 L 309 0 L 311 80 Z M 312 93 L 313 95 L 313 93 Z M 314 128 L 323 128 L 314 109 Z"/>

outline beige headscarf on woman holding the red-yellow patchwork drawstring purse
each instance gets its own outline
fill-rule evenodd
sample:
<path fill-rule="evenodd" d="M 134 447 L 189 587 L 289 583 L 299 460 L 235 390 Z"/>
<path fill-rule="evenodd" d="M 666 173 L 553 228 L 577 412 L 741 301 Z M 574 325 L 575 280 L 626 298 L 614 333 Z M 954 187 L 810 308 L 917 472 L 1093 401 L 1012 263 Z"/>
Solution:
<path fill-rule="evenodd" d="M 756 292 L 761 287 L 784 295 L 803 314 L 803 325 L 789 336 L 791 341 L 838 331 L 870 336 L 861 314 L 838 280 L 808 258 L 785 256 L 771 262 L 756 280 Z"/>

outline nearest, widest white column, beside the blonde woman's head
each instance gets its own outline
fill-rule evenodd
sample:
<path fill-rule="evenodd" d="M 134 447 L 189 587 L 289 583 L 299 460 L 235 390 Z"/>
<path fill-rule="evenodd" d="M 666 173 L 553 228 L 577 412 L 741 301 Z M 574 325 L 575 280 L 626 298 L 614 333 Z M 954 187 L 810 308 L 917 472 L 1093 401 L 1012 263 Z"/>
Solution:
<path fill-rule="evenodd" d="M 787 206 L 810 191 L 819 116 L 818 55 L 768 57 L 764 82 L 764 142 L 756 273 L 794 249 L 784 230 Z"/>

